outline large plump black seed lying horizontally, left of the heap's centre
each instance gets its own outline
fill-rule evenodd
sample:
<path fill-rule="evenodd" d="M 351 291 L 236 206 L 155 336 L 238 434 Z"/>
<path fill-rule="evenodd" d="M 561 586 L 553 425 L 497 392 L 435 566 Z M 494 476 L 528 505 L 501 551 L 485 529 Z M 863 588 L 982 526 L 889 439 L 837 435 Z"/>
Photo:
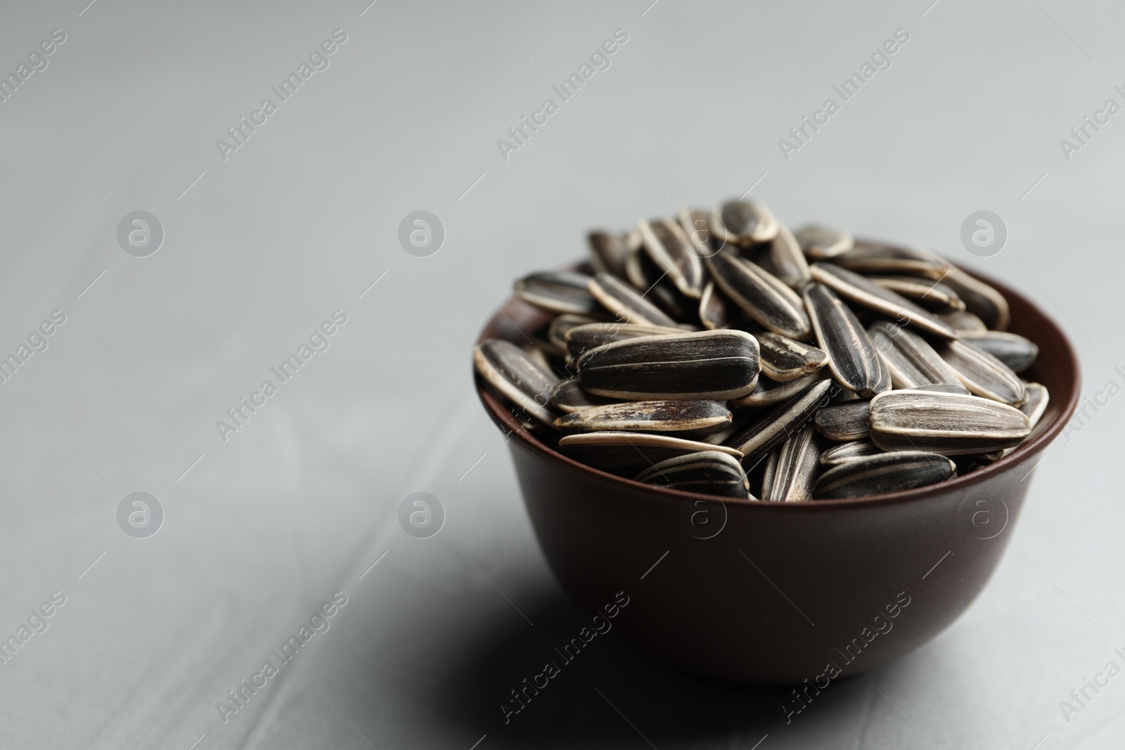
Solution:
<path fill-rule="evenodd" d="M 757 383 L 758 342 L 745 331 L 618 341 L 578 358 L 583 387 L 629 400 L 726 400 Z"/>

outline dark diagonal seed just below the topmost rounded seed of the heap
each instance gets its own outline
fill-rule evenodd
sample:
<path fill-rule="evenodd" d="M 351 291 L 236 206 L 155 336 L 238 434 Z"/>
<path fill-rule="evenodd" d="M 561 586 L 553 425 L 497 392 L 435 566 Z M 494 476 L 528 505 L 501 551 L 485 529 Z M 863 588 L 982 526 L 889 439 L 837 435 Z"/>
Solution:
<path fill-rule="evenodd" d="M 790 338 L 808 338 L 800 298 L 773 274 L 728 251 L 706 259 L 716 283 L 755 322 Z"/>

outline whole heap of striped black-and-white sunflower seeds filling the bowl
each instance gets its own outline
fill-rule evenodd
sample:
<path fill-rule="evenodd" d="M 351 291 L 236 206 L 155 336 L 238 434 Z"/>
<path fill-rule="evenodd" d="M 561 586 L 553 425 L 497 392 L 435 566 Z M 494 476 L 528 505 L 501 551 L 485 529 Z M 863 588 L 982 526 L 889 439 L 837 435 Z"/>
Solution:
<path fill-rule="evenodd" d="M 474 362 L 544 442 L 636 481 L 778 503 L 907 490 L 998 460 L 1047 406 L 1005 298 L 927 250 L 790 232 L 734 200 L 592 232 L 583 268 L 516 281 L 552 319 Z"/>

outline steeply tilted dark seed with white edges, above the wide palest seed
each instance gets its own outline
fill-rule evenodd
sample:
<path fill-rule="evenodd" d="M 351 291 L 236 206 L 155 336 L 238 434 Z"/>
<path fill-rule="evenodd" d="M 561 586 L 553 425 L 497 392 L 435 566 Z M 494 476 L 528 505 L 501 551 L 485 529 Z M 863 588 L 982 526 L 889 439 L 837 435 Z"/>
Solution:
<path fill-rule="evenodd" d="M 804 306 L 820 349 L 828 355 L 828 368 L 842 386 L 864 398 L 891 387 L 891 373 L 875 345 L 855 314 L 831 289 L 821 283 L 810 284 L 804 290 Z"/>

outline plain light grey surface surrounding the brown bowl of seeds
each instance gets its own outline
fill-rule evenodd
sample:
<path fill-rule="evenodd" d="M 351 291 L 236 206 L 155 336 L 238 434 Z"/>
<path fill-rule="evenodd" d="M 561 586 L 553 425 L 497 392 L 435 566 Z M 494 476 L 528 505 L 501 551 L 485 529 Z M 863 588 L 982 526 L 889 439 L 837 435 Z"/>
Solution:
<path fill-rule="evenodd" d="M 1125 677 L 1070 723 L 1059 707 L 1123 663 L 1119 398 L 1052 448 L 961 620 L 792 724 L 778 692 L 611 634 L 504 725 L 500 702 L 584 615 L 469 350 L 512 279 L 582 255 L 587 227 L 755 186 L 792 225 L 1008 280 L 1071 333 L 1088 395 L 1125 382 L 1125 115 L 1070 161 L 1059 145 L 1125 103 L 1125 8 L 649 1 L 6 3 L 3 73 L 68 38 L 0 103 L 0 350 L 66 323 L 0 385 L 0 631 L 66 604 L 0 666 L 0 746 L 1120 747 Z M 215 139 L 336 28 L 331 67 L 224 162 Z M 496 139 L 618 28 L 612 66 L 503 160 Z M 785 161 L 777 139 L 897 28 L 892 67 Z M 165 232 L 143 259 L 116 242 L 138 209 Z M 958 241 L 981 209 L 1009 232 L 988 259 Z M 398 246 L 414 210 L 444 225 L 433 256 Z M 336 309 L 331 347 L 224 443 L 215 421 Z M 397 522 L 418 490 L 447 512 L 431 539 Z M 133 491 L 163 506 L 151 537 L 117 525 Z M 224 724 L 216 702 L 338 590 L 331 630 Z"/>

